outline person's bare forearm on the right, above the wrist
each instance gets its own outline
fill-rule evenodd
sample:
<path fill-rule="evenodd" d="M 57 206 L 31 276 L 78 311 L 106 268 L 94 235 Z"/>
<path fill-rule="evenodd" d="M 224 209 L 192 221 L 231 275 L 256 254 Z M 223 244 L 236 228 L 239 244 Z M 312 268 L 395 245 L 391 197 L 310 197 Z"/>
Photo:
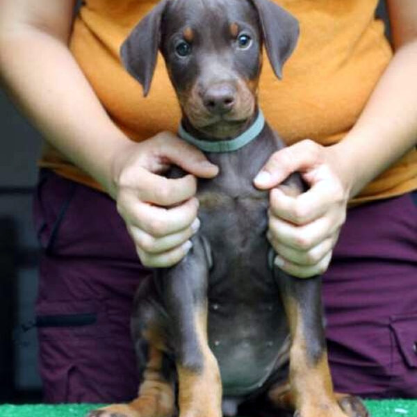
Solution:
<path fill-rule="evenodd" d="M 417 40 L 395 53 L 357 124 L 334 147 L 350 197 L 417 142 Z"/>

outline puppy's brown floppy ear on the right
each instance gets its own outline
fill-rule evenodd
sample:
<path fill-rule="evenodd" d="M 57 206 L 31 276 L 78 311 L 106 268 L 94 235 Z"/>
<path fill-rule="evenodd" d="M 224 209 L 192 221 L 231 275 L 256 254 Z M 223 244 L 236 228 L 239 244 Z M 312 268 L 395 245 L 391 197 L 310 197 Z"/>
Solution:
<path fill-rule="evenodd" d="M 261 22 L 266 53 L 275 72 L 282 78 L 282 67 L 297 44 L 300 27 L 297 19 L 270 0 L 252 0 Z"/>

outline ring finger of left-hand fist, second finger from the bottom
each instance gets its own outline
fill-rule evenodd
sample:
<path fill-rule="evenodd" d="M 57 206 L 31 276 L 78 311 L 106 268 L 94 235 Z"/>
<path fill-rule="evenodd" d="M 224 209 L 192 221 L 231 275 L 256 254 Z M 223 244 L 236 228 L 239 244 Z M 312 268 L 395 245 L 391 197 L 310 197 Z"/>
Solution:
<path fill-rule="evenodd" d="M 155 238 L 146 231 L 138 229 L 138 227 L 129 227 L 129 234 L 143 252 L 146 252 L 147 254 L 161 254 L 162 252 L 167 252 L 186 243 L 186 241 L 199 229 L 199 226 L 200 221 L 196 218 L 190 227 L 177 233 L 163 236 L 162 238 Z"/>

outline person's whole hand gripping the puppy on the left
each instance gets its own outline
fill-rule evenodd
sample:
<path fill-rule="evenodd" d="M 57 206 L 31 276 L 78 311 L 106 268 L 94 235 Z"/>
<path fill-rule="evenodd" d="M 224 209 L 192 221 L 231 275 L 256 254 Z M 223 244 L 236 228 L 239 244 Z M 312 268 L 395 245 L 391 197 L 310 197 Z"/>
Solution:
<path fill-rule="evenodd" d="M 171 164 L 190 174 L 180 179 L 159 175 Z M 166 131 L 144 142 L 129 142 L 112 165 L 113 184 L 108 192 L 117 202 L 142 264 L 163 268 L 179 262 L 199 227 L 195 177 L 215 177 L 218 167 Z"/>

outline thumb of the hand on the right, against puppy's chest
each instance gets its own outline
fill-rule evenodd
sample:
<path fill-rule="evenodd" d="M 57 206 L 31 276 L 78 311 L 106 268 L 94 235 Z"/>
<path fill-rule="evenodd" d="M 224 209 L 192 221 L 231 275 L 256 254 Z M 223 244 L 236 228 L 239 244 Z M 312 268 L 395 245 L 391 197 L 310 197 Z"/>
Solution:
<path fill-rule="evenodd" d="M 293 172 L 304 172 L 320 161 L 320 145 L 306 139 L 285 147 L 270 156 L 254 179 L 261 190 L 272 188 L 284 181 Z"/>

